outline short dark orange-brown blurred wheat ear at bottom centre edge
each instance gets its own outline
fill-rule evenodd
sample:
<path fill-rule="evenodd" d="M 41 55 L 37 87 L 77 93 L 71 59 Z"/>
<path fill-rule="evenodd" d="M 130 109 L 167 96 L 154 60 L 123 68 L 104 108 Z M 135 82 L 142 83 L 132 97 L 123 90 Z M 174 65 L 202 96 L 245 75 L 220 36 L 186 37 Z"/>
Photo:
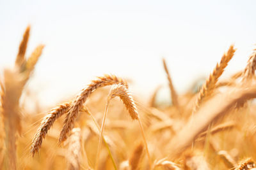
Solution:
<path fill-rule="evenodd" d="M 132 152 L 132 155 L 129 158 L 129 166 L 131 167 L 131 170 L 139 169 L 143 148 L 143 144 L 139 143 L 139 145 L 137 145 L 134 151 Z"/>

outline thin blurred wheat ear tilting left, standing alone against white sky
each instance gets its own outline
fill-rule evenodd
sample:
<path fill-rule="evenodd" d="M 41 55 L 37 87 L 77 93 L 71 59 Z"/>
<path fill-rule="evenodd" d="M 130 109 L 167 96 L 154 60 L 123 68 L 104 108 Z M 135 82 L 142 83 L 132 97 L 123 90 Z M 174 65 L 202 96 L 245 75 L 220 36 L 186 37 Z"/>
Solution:
<path fill-rule="evenodd" d="M 170 73 L 169 73 L 169 70 L 168 70 L 168 67 L 166 65 L 166 61 L 165 61 L 164 58 L 163 58 L 163 65 L 164 65 L 164 71 L 166 73 L 166 76 L 167 76 L 167 79 L 168 79 L 168 82 L 169 82 L 169 87 L 170 87 L 170 92 L 171 92 L 173 105 L 176 106 L 180 110 L 177 92 L 173 87 L 172 78 L 170 76 Z"/>

